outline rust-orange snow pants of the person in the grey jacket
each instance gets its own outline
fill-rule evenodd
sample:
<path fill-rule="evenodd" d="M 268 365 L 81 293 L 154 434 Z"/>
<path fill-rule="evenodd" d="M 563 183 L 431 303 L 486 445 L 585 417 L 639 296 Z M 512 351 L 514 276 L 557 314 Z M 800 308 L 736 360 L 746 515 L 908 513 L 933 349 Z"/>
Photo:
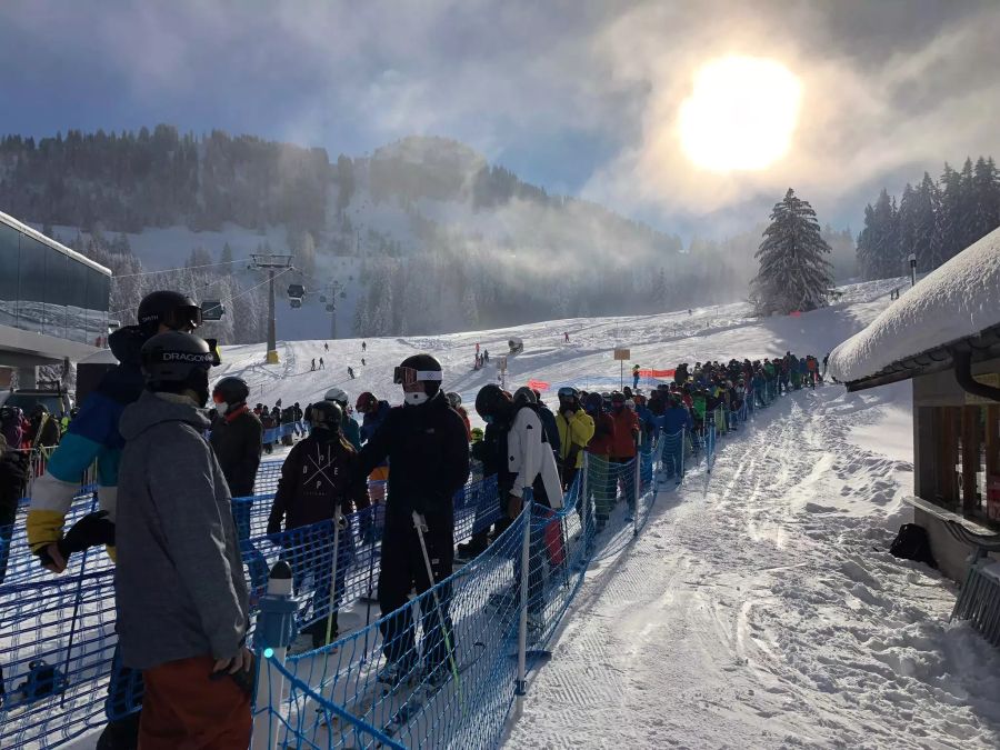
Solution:
<path fill-rule="evenodd" d="M 247 750 L 250 696 L 228 676 L 209 679 L 213 664 L 192 657 L 142 672 L 139 750 Z"/>

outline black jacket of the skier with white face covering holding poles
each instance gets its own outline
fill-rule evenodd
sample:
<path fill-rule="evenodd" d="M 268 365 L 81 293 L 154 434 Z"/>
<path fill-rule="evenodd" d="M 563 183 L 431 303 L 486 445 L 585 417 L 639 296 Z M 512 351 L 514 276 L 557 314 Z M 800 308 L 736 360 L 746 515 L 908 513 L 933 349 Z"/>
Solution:
<path fill-rule="evenodd" d="M 414 510 L 428 523 L 453 526 L 454 493 L 469 479 L 466 423 L 442 392 L 420 406 L 394 407 L 361 450 L 356 481 L 389 459 L 387 523 L 412 523 Z M 433 520 L 432 520 L 433 518 Z"/>

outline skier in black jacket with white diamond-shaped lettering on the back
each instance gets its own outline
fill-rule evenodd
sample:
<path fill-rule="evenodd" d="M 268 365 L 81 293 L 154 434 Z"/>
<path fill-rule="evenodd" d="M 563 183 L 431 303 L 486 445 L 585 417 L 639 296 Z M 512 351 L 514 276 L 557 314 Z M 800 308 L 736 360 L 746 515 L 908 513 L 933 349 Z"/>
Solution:
<path fill-rule="evenodd" d="M 268 517 L 268 533 L 300 530 L 289 534 L 282 543 L 291 552 L 296 593 L 307 578 L 312 578 L 312 611 L 303 634 L 312 638 L 312 648 L 327 644 L 329 630 L 336 638 L 337 609 L 343 597 L 348 567 L 354 553 L 349 523 L 342 520 L 337 540 L 337 580 L 330 600 L 330 552 L 333 549 L 334 509 L 343 516 L 368 508 L 368 487 L 354 482 L 358 453 L 340 431 L 343 413 L 333 401 L 312 404 L 312 429 L 288 453 L 281 467 L 281 479 Z M 287 519 L 287 520 L 286 520 Z"/>

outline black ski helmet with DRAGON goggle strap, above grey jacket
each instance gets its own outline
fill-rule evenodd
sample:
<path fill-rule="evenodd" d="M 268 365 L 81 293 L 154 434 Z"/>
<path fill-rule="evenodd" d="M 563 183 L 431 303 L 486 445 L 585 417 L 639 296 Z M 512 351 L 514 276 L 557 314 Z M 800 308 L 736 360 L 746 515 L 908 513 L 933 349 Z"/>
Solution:
<path fill-rule="evenodd" d="M 214 354 L 203 339 L 183 331 L 157 333 L 142 344 L 142 374 L 151 391 L 192 390 L 208 403 L 208 372 Z"/>

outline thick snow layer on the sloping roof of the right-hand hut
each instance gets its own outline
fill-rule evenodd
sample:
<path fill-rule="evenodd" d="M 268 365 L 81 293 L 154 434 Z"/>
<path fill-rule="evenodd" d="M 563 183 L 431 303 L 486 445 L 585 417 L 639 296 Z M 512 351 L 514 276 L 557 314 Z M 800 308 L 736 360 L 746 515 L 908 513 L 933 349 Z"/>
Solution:
<path fill-rule="evenodd" d="M 929 273 L 830 353 L 841 382 L 886 368 L 1000 324 L 1000 229 Z"/>

